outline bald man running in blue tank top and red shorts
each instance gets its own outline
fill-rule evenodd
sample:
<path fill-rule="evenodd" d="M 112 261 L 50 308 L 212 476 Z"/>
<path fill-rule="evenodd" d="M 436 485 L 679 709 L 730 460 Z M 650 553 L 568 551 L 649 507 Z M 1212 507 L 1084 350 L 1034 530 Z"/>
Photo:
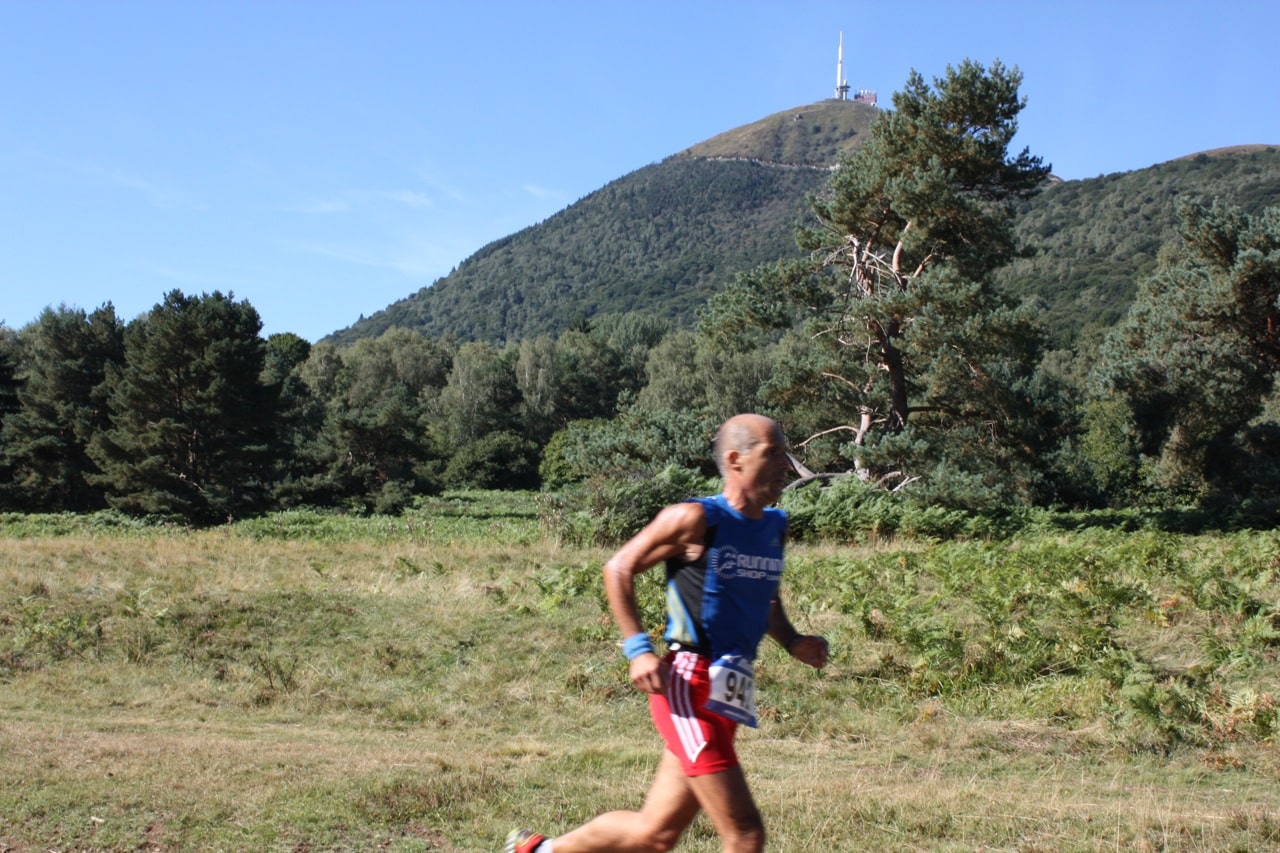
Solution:
<path fill-rule="evenodd" d="M 764 849 L 764 822 L 733 749 L 754 726 L 753 663 L 765 634 L 796 660 L 827 663 L 827 640 L 800 634 L 778 597 L 786 514 L 772 505 L 791 464 L 778 425 L 736 415 L 716 435 L 724 491 L 662 510 L 604 565 L 609 608 L 622 630 L 631 681 L 649 694 L 667 748 L 639 812 L 617 811 L 556 839 L 530 830 L 506 853 L 671 850 L 699 809 L 728 853 Z M 659 658 L 640 622 L 635 578 L 667 566 L 668 651 Z"/>

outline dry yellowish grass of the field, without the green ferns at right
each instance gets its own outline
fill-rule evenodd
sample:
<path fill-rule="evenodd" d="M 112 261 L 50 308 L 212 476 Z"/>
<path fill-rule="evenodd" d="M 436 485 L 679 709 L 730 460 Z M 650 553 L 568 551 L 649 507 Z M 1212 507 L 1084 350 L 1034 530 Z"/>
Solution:
<path fill-rule="evenodd" d="M 425 528 L 0 539 L 0 850 L 479 852 L 636 806 L 658 742 L 591 588 L 605 555 L 531 520 Z M 77 613 L 88 639 L 59 646 Z M 796 617 L 838 643 L 820 675 L 763 658 L 741 751 L 771 849 L 1280 845 L 1274 742 L 1147 751 L 1018 712 L 1083 681 L 913 698 L 849 617 Z M 700 821 L 681 849 L 718 843 Z"/>

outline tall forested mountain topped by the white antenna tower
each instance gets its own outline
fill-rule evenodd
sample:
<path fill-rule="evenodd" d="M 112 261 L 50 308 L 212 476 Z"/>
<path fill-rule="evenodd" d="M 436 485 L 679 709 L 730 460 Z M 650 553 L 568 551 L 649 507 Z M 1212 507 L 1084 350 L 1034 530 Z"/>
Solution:
<path fill-rule="evenodd" d="M 861 145 L 876 115 L 868 104 L 828 100 L 722 133 L 489 243 L 329 339 L 406 327 L 508 342 L 626 311 L 691 321 L 737 273 L 795 251 L 805 196 L 841 151 Z"/>

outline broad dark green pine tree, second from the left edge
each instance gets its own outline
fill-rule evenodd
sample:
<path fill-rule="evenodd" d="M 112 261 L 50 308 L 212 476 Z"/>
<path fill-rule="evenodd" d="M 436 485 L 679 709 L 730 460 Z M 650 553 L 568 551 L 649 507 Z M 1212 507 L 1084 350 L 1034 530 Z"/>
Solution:
<path fill-rule="evenodd" d="M 248 302 L 172 291 L 124 334 L 108 369 L 111 428 L 93 478 L 122 511 L 210 523 L 257 512 L 278 428 L 262 323 Z"/>

